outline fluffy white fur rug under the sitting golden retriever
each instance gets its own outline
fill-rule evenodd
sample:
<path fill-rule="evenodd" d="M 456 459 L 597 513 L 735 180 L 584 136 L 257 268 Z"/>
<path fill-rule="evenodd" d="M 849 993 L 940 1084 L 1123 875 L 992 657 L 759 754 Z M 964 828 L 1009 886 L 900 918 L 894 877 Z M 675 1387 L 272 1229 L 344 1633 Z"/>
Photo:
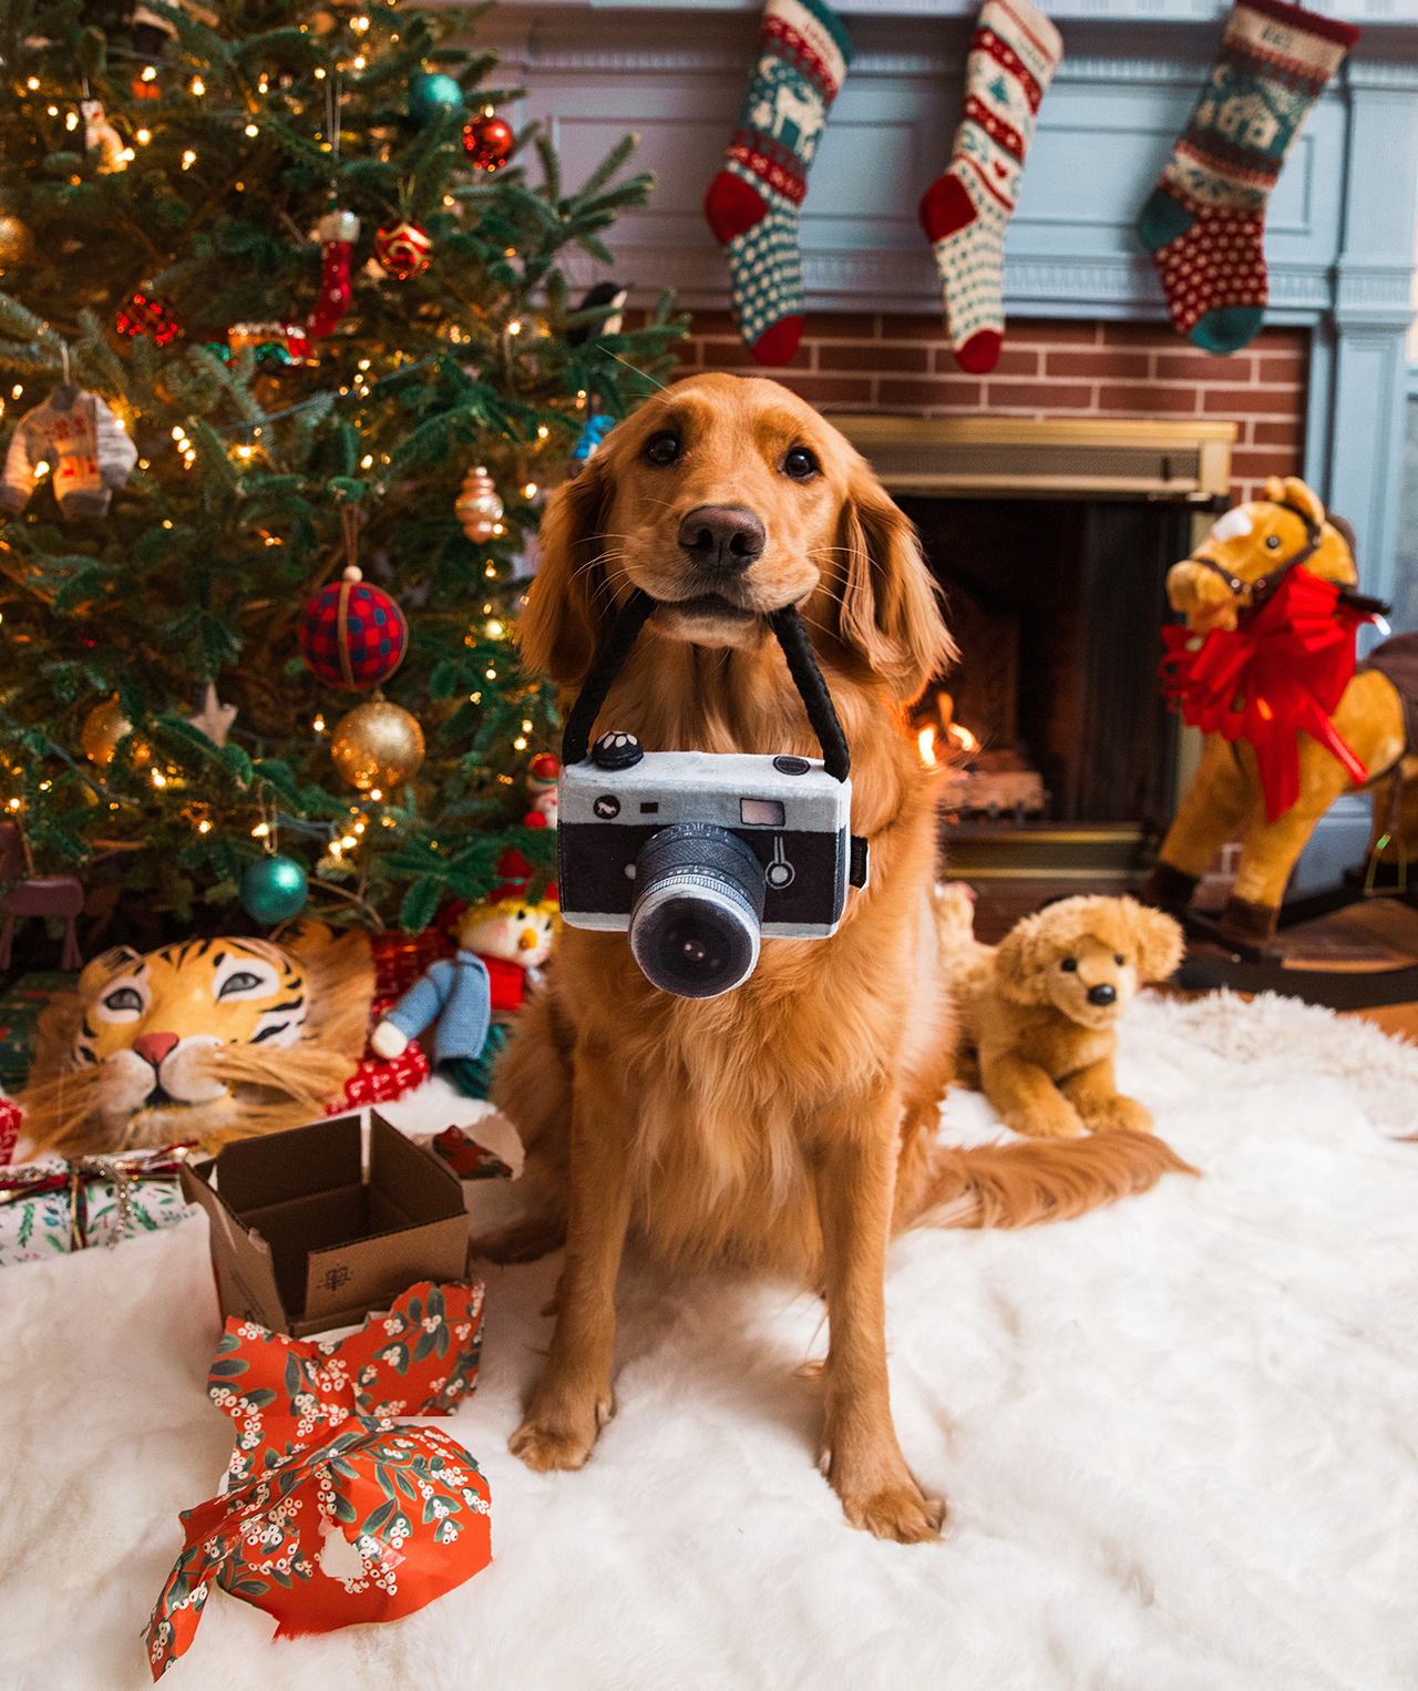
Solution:
<path fill-rule="evenodd" d="M 1418 1050 L 1293 1001 L 1143 999 L 1124 1087 L 1205 1170 L 1083 1221 L 914 1233 L 896 1420 L 941 1544 L 813 1466 L 820 1305 L 627 1265 L 619 1417 L 580 1475 L 507 1436 L 559 1258 L 487 1270 L 450 1422 L 494 1564 L 402 1622 L 270 1642 L 213 1593 L 171 1691 L 1388 1691 L 1418 1683 Z M 470 1121 L 428 1087 L 406 1126 Z M 952 1097 L 946 1131 L 990 1116 Z M 490 1135 L 485 1135 L 490 1136 Z M 502 1146 L 505 1150 L 505 1146 Z M 137 1691 L 177 1510 L 228 1422 L 201 1219 L 0 1272 L 0 1686 Z"/>

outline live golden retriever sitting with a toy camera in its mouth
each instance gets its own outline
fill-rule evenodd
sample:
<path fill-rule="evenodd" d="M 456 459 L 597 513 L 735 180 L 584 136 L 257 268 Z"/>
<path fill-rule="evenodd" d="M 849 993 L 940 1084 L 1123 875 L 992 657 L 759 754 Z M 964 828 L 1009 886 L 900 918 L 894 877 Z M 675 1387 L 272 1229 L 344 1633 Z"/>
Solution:
<path fill-rule="evenodd" d="M 891 1420 L 884 1341 L 894 1229 L 1021 1224 L 1149 1187 L 1176 1158 L 1114 1135 L 933 1145 L 953 1033 L 933 884 L 935 793 L 903 705 L 952 656 L 906 517 L 808 404 L 700 375 L 622 423 L 553 495 L 521 617 L 524 661 L 575 695 L 620 604 L 659 602 L 595 732 L 647 751 L 818 744 L 764 616 L 798 605 L 852 747 L 852 832 L 870 886 L 838 932 L 764 940 L 718 998 L 657 991 L 624 933 L 568 927 L 504 1053 L 494 1099 L 526 1152 L 526 1219 L 500 1260 L 566 1241 L 546 1370 L 510 1447 L 580 1468 L 612 1414 L 615 1277 L 627 1233 L 671 1265 L 720 1258 L 826 1297 L 823 1469 L 847 1519 L 935 1537 Z"/>

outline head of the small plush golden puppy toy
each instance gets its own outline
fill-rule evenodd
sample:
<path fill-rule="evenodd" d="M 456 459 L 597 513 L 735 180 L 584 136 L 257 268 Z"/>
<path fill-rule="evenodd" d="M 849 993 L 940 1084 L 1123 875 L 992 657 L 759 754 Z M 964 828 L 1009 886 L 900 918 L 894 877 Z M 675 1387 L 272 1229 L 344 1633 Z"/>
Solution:
<path fill-rule="evenodd" d="M 1007 998 L 1107 1028 L 1146 981 L 1181 962 L 1181 928 L 1132 898 L 1063 898 L 1016 923 L 995 954 Z"/>

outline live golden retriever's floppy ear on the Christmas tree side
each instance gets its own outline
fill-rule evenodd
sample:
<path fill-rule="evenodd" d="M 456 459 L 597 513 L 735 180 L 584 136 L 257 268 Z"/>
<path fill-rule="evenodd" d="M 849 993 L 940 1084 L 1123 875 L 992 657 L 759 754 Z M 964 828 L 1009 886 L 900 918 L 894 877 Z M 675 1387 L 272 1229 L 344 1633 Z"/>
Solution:
<path fill-rule="evenodd" d="M 605 514 L 612 497 L 607 446 L 548 499 L 541 519 L 541 568 L 517 617 L 517 644 L 529 670 L 558 687 L 576 687 L 610 626 L 605 592 Z"/>

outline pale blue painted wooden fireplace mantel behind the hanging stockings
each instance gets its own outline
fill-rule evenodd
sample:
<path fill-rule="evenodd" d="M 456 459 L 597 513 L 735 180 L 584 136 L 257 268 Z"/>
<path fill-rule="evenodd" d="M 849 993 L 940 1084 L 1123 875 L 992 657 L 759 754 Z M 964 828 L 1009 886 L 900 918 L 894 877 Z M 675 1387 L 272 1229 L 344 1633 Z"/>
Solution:
<path fill-rule="evenodd" d="M 1215 57 L 1225 0 L 1050 0 L 1065 61 L 1039 110 L 1006 247 L 1012 316 L 1163 320 L 1134 233 Z M 1268 320 L 1310 335 L 1305 475 L 1359 534 L 1366 590 L 1393 582 L 1418 203 L 1418 0 L 1332 0 L 1364 37 L 1271 200 Z M 857 46 L 801 218 L 810 311 L 935 313 L 916 201 L 945 164 L 974 0 L 847 0 Z M 752 64 L 759 0 L 504 3 L 482 25 L 578 181 L 627 130 L 654 171 L 617 223 L 634 303 L 673 287 L 722 311 L 728 276 L 701 200 Z M 590 259 L 573 282 L 598 276 Z"/>

